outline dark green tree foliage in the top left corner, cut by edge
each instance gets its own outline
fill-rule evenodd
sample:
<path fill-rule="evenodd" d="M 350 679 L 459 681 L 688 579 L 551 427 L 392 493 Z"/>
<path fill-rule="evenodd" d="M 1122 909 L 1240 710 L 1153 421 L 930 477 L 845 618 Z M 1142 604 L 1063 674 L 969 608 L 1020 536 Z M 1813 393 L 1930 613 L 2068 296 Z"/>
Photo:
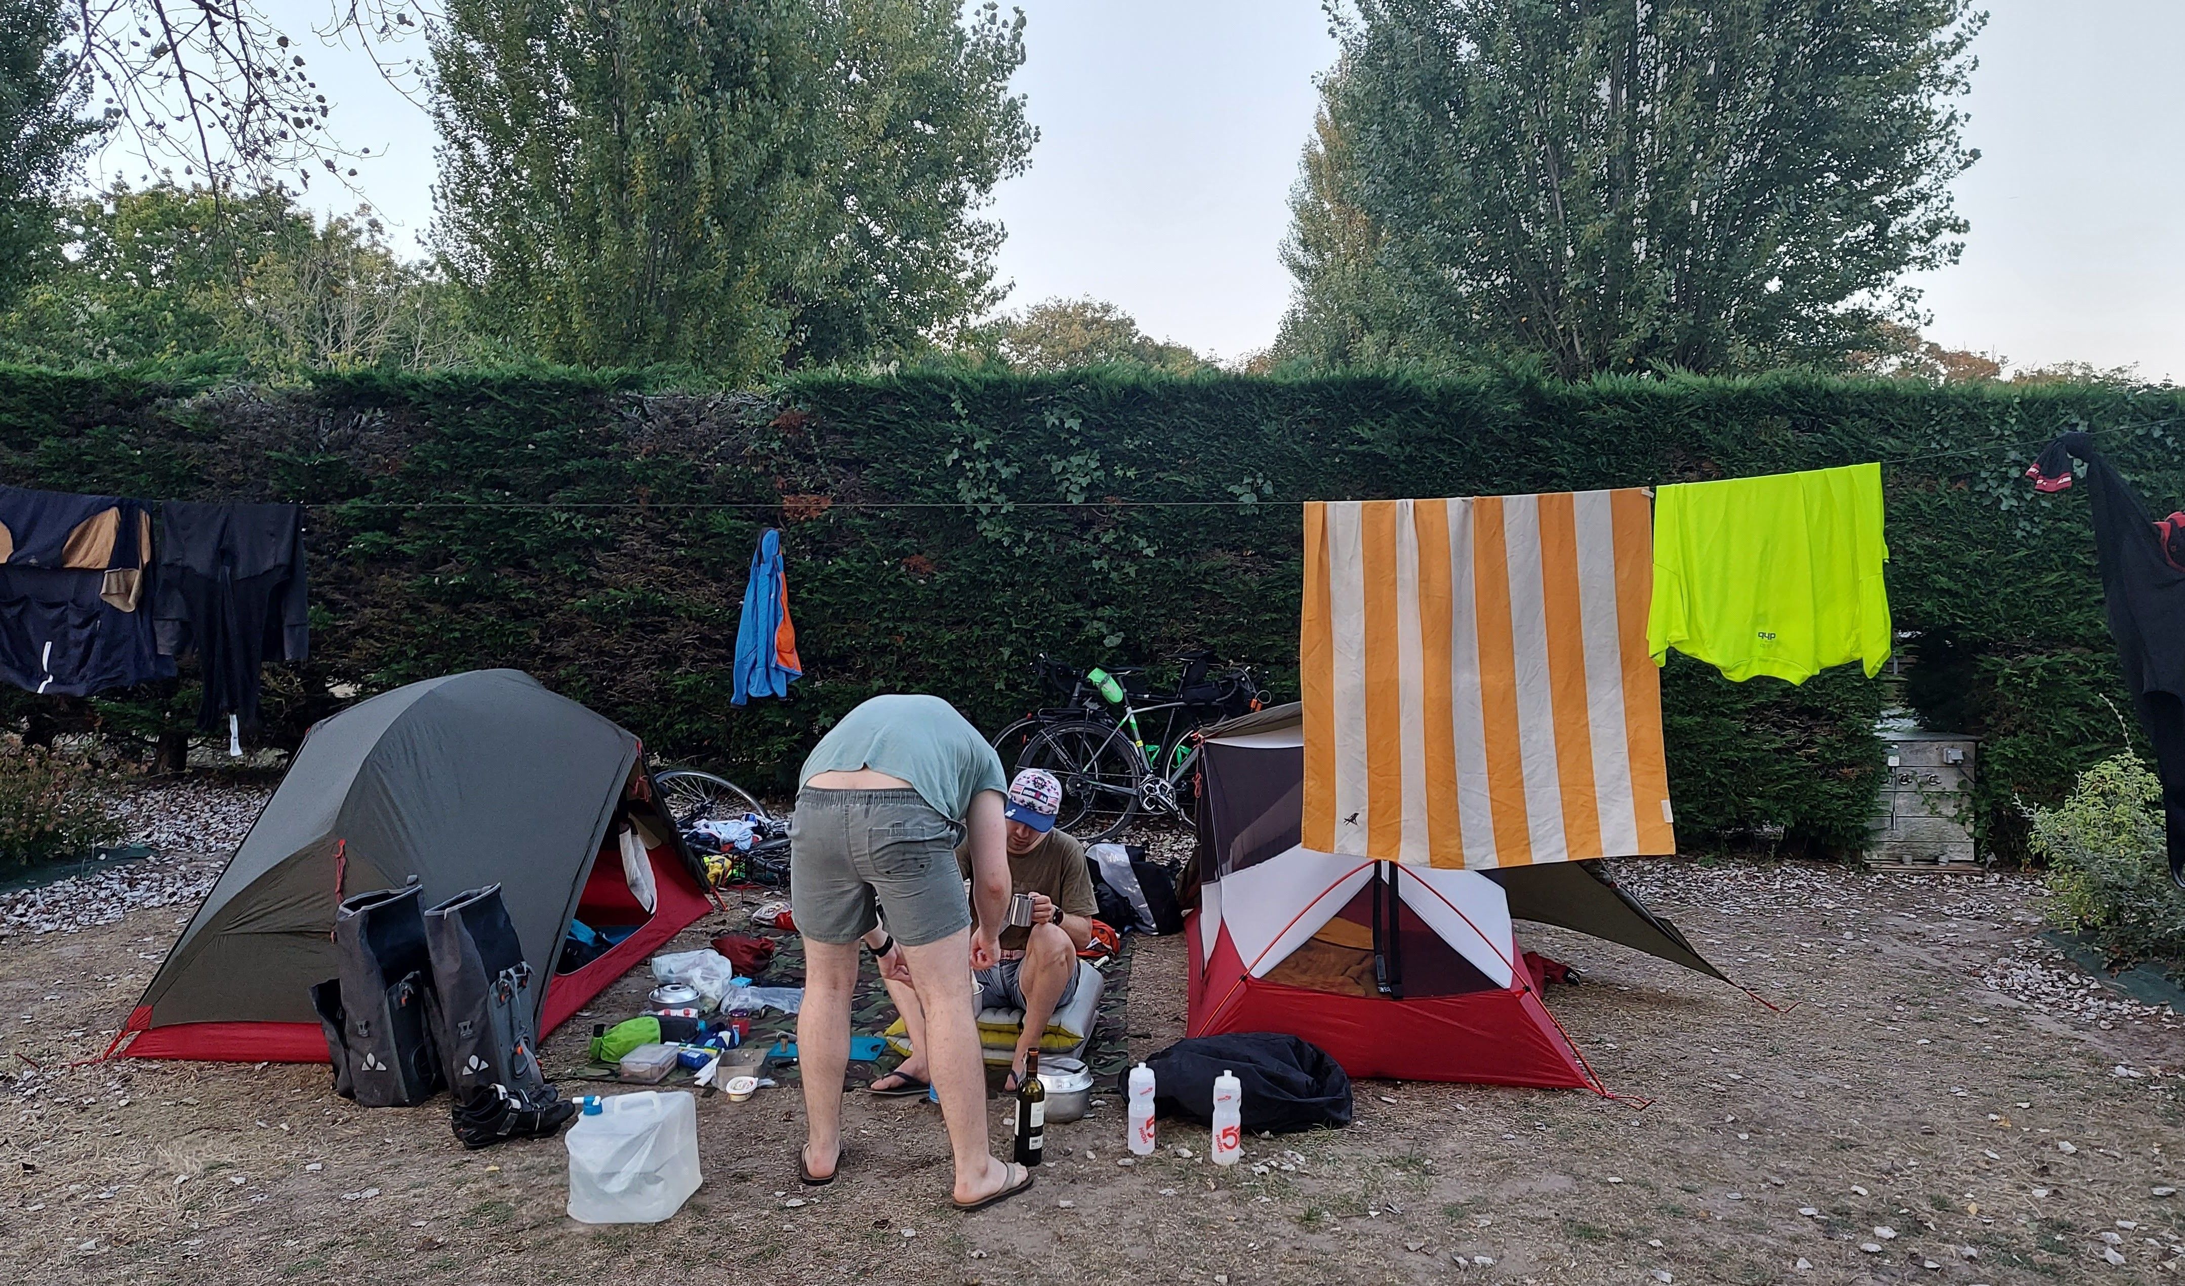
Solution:
<path fill-rule="evenodd" d="M 57 199 L 101 129 L 79 116 L 85 94 L 63 39 L 59 4 L 0 4 L 0 306 L 59 245 Z"/>

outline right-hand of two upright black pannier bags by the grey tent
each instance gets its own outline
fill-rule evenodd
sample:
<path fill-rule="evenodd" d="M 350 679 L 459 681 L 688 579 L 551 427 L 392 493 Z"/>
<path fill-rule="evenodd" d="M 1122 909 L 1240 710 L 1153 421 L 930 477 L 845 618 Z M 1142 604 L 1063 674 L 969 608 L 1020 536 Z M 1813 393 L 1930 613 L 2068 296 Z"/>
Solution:
<path fill-rule="evenodd" d="M 454 1135 L 465 1148 L 483 1148 L 555 1133 L 577 1105 L 540 1072 L 533 974 L 500 884 L 428 908 L 424 926 Z"/>

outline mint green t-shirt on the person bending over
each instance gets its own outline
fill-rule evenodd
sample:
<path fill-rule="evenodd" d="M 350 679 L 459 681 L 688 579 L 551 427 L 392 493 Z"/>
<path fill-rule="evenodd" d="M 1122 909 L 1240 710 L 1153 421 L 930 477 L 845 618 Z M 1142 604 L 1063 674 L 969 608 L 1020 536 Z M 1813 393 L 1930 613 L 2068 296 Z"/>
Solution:
<path fill-rule="evenodd" d="M 970 819 L 970 797 L 1009 788 L 1001 755 L 940 696 L 889 694 L 841 716 L 798 771 L 798 786 L 819 773 L 872 769 L 902 777 L 948 821 Z"/>

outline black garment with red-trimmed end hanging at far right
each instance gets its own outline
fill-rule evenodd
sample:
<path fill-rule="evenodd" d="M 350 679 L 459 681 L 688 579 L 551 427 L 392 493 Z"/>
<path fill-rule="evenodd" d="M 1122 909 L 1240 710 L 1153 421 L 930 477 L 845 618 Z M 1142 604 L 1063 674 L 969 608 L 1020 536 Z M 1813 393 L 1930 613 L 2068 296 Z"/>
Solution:
<path fill-rule="evenodd" d="M 2139 727 L 2154 747 L 2154 775 L 2163 782 L 2163 827 L 2170 841 L 2170 878 L 2185 884 L 2185 565 L 2172 537 L 2185 515 L 2165 522 L 2146 507 L 2115 465 L 2084 432 L 2052 441 L 2025 476 L 2039 491 L 2071 485 L 2071 456 L 2087 461 L 2093 504 L 2093 555 L 2102 568 L 2109 633 L 2117 640 L 2124 686 L 2133 692 Z"/>

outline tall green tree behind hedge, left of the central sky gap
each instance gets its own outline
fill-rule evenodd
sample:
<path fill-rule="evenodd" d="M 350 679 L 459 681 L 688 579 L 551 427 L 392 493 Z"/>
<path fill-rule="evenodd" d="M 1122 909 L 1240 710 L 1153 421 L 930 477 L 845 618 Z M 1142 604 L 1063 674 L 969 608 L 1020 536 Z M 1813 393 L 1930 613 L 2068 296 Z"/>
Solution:
<path fill-rule="evenodd" d="M 1034 129 L 1023 15 L 955 0 L 452 0 L 437 236 L 483 325 L 730 378 L 891 358 L 992 306 Z"/>

